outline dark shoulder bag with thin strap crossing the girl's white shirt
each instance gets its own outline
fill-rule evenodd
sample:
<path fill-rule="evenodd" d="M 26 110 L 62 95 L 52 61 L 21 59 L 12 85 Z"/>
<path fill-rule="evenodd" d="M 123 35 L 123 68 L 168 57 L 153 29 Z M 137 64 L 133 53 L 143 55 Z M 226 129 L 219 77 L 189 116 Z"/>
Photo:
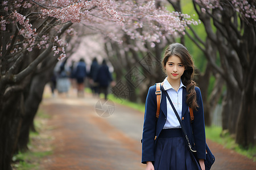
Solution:
<path fill-rule="evenodd" d="M 174 104 L 172 104 L 172 101 L 171 101 L 170 96 L 168 95 L 167 91 L 165 91 L 165 90 L 163 90 L 163 91 L 166 93 L 167 99 L 169 100 L 169 102 L 170 102 L 170 104 L 172 106 L 172 109 L 174 109 L 174 113 L 176 114 L 176 117 L 177 117 L 177 119 L 180 122 L 181 129 L 182 129 L 183 134 L 185 135 L 185 139 L 187 140 L 187 143 L 188 143 L 187 146 L 189 148 L 190 153 L 192 154 L 191 156 L 195 156 L 195 158 L 197 160 L 197 163 L 199 164 L 199 159 L 197 159 L 196 151 L 192 150 L 191 144 L 189 143 L 189 140 L 188 140 L 188 135 L 185 132 L 185 129 L 184 129 L 183 125 L 182 125 L 182 122 L 180 120 L 179 114 L 177 113 L 177 111 L 176 111 L 176 109 L 174 107 Z M 204 160 L 205 169 L 209 170 L 210 167 L 212 167 L 212 164 L 214 163 L 214 161 L 215 161 L 215 157 L 212 154 L 212 152 L 210 152 L 209 147 L 206 145 L 206 159 Z M 200 164 L 199 164 L 199 167 L 200 167 Z"/>

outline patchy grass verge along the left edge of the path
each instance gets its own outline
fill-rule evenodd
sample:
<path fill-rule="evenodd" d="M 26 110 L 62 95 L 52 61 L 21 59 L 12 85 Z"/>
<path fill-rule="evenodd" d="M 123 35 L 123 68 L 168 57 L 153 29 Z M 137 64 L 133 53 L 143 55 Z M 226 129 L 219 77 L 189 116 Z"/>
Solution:
<path fill-rule="evenodd" d="M 42 131 L 46 129 L 45 120 L 50 118 L 48 114 L 44 114 L 39 110 L 35 117 L 36 132 L 30 131 L 30 142 L 28 143 L 28 151 L 19 152 L 13 156 L 12 167 L 14 170 L 30 170 L 40 169 L 40 163 L 45 156 L 51 155 L 52 150 L 47 143 L 51 137 L 42 136 Z"/>

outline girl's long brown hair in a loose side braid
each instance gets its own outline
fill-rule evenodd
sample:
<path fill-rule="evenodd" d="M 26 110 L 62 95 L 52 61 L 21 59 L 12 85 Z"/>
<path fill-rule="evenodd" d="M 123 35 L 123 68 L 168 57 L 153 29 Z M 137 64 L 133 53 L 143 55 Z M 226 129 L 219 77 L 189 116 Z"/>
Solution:
<path fill-rule="evenodd" d="M 162 60 L 162 67 L 164 72 L 166 71 L 164 69 L 164 66 L 166 66 L 166 63 L 171 56 L 177 56 L 180 58 L 181 63 L 185 67 L 185 71 L 183 75 L 181 76 L 181 82 L 186 86 L 187 90 L 187 100 L 186 103 L 189 107 L 192 109 L 197 109 L 198 104 L 196 102 L 196 91 L 195 86 L 196 82 L 193 81 L 193 75 L 194 75 L 194 62 L 191 57 L 191 54 L 189 54 L 187 48 L 185 48 L 184 45 L 179 43 L 170 44 L 166 51 L 164 52 L 164 57 Z"/>

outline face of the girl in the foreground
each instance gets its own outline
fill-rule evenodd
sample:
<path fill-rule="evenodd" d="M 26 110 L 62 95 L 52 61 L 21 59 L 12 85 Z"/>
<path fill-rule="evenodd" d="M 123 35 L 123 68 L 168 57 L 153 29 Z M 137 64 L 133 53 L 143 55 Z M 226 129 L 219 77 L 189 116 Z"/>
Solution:
<path fill-rule="evenodd" d="M 171 81 L 180 80 L 181 75 L 183 75 L 185 71 L 185 67 L 181 63 L 180 58 L 177 56 L 170 56 L 164 68 L 166 69 L 168 80 Z"/>

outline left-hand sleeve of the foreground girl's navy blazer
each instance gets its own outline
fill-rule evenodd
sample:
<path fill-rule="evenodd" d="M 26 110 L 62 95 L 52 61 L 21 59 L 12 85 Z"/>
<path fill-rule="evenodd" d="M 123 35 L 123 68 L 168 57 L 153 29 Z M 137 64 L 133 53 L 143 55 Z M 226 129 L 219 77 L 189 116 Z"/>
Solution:
<path fill-rule="evenodd" d="M 142 134 L 142 163 L 154 162 L 154 145 L 155 145 L 155 126 L 156 126 L 156 95 L 155 86 L 148 90 L 145 112 L 144 125 Z"/>

